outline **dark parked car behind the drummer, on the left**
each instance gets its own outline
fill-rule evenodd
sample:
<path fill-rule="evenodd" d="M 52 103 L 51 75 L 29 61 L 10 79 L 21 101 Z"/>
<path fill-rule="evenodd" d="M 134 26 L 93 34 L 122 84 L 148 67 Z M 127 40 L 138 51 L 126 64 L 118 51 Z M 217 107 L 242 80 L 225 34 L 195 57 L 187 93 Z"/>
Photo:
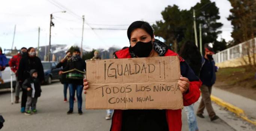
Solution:
<path fill-rule="evenodd" d="M 58 64 L 57 62 L 42 61 L 42 64 L 46 84 L 51 84 L 52 80 L 60 78 L 58 72 L 61 70 L 61 68 L 56 68 L 56 65 Z"/>

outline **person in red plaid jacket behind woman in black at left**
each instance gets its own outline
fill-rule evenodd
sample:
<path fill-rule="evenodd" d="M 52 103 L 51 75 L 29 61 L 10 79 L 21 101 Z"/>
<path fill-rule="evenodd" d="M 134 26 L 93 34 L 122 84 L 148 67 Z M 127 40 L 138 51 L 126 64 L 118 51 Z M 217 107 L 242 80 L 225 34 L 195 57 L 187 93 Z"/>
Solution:
<path fill-rule="evenodd" d="M 19 85 L 18 81 L 18 68 L 19 68 L 19 61 L 21 60 L 21 57 L 26 56 L 27 54 L 27 48 L 22 47 L 20 52 L 13 56 L 10 61 L 9 61 L 9 66 L 11 67 L 10 69 L 16 76 L 16 85 L 15 85 L 15 102 L 14 103 L 19 103 L 19 91 L 21 90 L 21 87 Z"/>

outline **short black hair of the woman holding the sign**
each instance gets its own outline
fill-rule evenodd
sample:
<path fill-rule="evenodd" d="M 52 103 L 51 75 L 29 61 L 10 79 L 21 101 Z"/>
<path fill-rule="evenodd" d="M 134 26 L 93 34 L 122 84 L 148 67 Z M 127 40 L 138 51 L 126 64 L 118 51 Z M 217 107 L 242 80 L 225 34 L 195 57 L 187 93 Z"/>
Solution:
<path fill-rule="evenodd" d="M 131 40 L 132 32 L 138 28 L 144 29 L 148 34 L 150 34 L 151 38 L 154 37 L 154 31 L 153 31 L 152 27 L 150 26 L 150 24 L 148 24 L 148 22 L 135 21 L 127 29 L 127 37 L 129 39 L 129 41 Z"/>

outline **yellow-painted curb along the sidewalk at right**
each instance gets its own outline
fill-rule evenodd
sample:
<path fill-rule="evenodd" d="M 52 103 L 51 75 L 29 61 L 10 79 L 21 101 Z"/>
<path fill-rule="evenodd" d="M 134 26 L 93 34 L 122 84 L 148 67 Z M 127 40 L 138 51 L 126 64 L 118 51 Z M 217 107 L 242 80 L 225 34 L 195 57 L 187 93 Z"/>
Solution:
<path fill-rule="evenodd" d="M 235 113 L 237 116 L 239 116 L 240 118 L 244 119 L 247 122 L 252 123 L 253 125 L 256 125 L 256 121 L 255 120 L 251 120 L 249 119 L 246 114 L 244 113 L 243 109 L 240 109 L 239 107 L 236 107 L 228 102 L 225 102 L 224 100 L 211 95 L 211 101 L 215 102 L 217 105 L 225 107 L 226 109 L 228 109 L 230 112 Z"/>

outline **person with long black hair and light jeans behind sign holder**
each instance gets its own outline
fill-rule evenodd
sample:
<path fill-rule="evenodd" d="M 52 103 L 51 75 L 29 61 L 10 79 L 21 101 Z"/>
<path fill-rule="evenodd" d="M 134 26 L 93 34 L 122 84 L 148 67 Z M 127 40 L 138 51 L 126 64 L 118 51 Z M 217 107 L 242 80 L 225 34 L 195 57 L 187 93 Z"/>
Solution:
<path fill-rule="evenodd" d="M 191 41 L 186 41 L 186 43 L 184 43 L 181 47 L 180 56 L 191 67 L 195 75 L 199 77 L 202 67 L 202 55 L 199 52 L 198 47 L 196 47 L 195 43 L 192 43 Z M 184 106 L 184 109 L 187 113 L 189 131 L 198 131 L 198 125 L 194 113 L 193 104 L 190 106 Z"/>

